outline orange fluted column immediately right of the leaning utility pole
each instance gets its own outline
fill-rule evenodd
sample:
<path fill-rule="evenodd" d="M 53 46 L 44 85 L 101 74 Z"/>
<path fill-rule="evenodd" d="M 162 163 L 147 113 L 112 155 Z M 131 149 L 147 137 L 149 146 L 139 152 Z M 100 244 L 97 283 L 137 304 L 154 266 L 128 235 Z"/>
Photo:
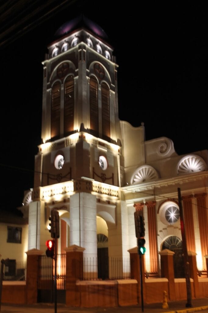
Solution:
<path fill-rule="evenodd" d="M 186 225 L 187 250 L 196 252 L 192 198 L 193 195 L 183 196 L 182 200 L 183 200 L 184 222 Z"/>

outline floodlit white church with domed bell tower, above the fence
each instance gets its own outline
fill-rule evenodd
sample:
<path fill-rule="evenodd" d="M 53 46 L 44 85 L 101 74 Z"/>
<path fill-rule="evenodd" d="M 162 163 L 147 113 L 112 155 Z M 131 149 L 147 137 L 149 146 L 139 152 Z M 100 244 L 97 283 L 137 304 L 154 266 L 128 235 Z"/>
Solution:
<path fill-rule="evenodd" d="M 28 250 L 45 251 L 56 208 L 59 253 L 76 244 L 88 258 L 128 256 L 137 245 L 134 211 L 140 210 L 146 268 L 156 272 L 161 250 L 181 251 L 180 187 L 188 250 L 206 269 L 207 151 L 178 156 L 170 139 L 145 141 L 143 124 L 119 120 L 113 49 L 103 30 L 84 22 L 81 28 L 64 24 L 42 62 L 42 144 L 25 207 Z"/>

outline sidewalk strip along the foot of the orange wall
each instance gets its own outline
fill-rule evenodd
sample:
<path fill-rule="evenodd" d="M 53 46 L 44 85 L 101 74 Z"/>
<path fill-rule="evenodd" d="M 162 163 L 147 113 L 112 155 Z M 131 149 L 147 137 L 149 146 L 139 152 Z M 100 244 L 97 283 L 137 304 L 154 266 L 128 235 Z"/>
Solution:
<path fill-rule="evenodd" d="M 144 313 L 170 313 L 170 312 L 196 312 L 206 310 L 208 312 L 208 298 L 194 299 L 192 308 L 186 308 L 186 300 L 168 302 L 168 309 L 162 309 L 162 303 L 144 305 Z M 57 305 L 57 313 L 140 313 L 141 306 L 123 306 L 111 308 L 80 308 L 69 307 L 63 304 Z M 203 312 L 203 311 L 202 311 Z M 54 313 L 54 304 L 38 303 L 34 305 L 1 305 L 1 313 Z"/>

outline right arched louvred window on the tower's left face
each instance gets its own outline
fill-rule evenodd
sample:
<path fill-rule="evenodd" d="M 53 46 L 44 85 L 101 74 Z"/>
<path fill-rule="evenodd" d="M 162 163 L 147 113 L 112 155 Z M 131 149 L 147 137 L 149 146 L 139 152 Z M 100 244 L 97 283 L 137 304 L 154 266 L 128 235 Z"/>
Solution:
<path fill-rule="evenodd" d="M 74 78 L 68 76 L 64 84 L 64 134 L 74 130 Z"/>

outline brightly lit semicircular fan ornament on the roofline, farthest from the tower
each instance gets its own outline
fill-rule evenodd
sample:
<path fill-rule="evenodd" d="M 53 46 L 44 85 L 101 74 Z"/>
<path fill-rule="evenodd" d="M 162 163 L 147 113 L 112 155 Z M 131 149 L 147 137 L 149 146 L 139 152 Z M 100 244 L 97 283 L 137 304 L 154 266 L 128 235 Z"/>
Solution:
<path fill-rule="evenodd" d="M 189 155 L 183 157 L 177 166 L 177 174 L 205 171 L 206 163 L 200 156 Z"/>

